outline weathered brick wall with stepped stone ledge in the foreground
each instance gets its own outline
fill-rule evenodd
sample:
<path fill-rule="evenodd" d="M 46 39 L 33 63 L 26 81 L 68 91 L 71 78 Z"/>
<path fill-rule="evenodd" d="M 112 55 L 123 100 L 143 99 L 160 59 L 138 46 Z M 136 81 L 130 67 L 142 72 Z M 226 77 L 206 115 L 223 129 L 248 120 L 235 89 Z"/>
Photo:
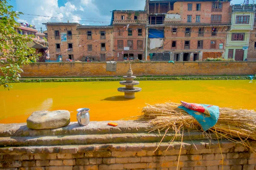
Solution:
<path fill-rule="evenodd" d="M 168 143 L 169 140 L 164 140 L 154 152 L 163 133 L 144 135 L 143 140 L 141 136 L 148 134 L 145 132 L 148 128 L 146 124 L 133 121 L 118 121 L 117 127 L 106 124 L 107 122 L 90 122 L 88 126 L 80 127 L 72 122 L 67 127 L 55 130 L 29 130 L 26 124 L 0 124 L 0 169 L 176 170 L 178 165 L 178 170 L 221 170 L 222 164 L 223 170 L 256 169 L 256 153 L 241 144 L 227 140 L 220 140 L 218 143 L 214 139 L 209 142 L 202 133 L 190 132 L 192 140 L 183 138 L 182 145 L 181 138 L 175 139 L 172 144 Z M 125 142 L 123 139 L 128 139 L 125 137 L 128 134 L 133 136 L 129 136 L 129 142 Z M 170 133 L 169 136 L 173 134 Z M 88 135 L 93 135 L 94 140 L 89 142 L 86 138 Z M 105 135 L 105 143 L 99 144 L 97 140 L 102 135 Z M 121 137 L 114 139 L 113 135 Z M 71 140 L 70 144 L 61 144 L 67 136 L 81 142 L 78 145 Z M 77 136 L 85 136 L 85 139 Z M 212 137 L 214 138 L 213 134 Z M 58 140 L 52 140 L 53 138 Z M 35 139 L 45 143 L 35 145 L 32 142 Z M 145 142 L 146 139 L 150 142 Z M 49 141 L 52 143 L 48 143 Z M 251 141 L 250 145 L 256 149 L 255 141 Z"/>

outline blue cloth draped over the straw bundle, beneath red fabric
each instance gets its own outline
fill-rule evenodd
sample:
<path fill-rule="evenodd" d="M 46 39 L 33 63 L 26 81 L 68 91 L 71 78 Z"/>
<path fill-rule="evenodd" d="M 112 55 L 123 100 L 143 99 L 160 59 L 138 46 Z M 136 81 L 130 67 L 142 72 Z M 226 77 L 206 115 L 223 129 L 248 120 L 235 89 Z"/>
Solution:
<path fill-rule="evenodd" d="M 185 108 L 184 106 L 179 106 L 178 108 L 183 109 L 191 116 L 193 116 L 202 126 L 203 130 L 206 131 L 217 123 L 218 118 L 220 116 L 220 111 L 218 106 L 204 104 L 201 105 L 209 111 L 210 116 L 207 116 L 206 114 L 198 111 L 190 110 L 188 108 Z"/>

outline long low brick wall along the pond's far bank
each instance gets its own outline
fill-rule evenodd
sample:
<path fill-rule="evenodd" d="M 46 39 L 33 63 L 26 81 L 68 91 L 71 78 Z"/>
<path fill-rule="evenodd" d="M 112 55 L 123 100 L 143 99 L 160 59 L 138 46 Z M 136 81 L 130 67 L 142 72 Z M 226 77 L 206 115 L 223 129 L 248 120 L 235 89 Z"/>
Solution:
<path fill-rule="evenodd" d="M 33 63 L 23 68 L 23 77 L 124 76 L 127 62 L 117 62 L 116 72 L 106 71 L 105 62 Z M 132 63 L 136 76 L 213 76 L 256 74 L 256 62 L 145 62 Z"/>

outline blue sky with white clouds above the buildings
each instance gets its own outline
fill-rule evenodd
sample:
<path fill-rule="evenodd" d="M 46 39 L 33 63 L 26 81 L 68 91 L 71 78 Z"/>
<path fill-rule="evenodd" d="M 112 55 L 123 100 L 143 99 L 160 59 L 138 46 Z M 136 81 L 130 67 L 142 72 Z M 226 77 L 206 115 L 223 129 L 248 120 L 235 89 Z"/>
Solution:
<path fill-rule="evenodd" d="M 232 0 L 232 4 L 244 0 Z M 15 11 L 23 12 L 19 22 L 45 30 L 41 23 L 78 22 L 83 25 L 109 25 L 113 10 L 144 10 L 145 0 L 10 0 Z M 252 0 L 250 0 L 252 3 Z M 43 17 L 44 16 L 44 17 Z"/>

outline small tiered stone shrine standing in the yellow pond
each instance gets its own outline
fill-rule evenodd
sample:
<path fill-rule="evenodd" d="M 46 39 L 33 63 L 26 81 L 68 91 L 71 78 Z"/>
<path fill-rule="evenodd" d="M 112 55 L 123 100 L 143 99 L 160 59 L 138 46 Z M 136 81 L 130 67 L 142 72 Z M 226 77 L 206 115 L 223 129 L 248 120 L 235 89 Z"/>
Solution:
<path fill-rule="evenodd" d="M 125 93 L 125 98 L 127 99 L 135 98 L 135 93 L 140 92 L 141 88 L 134 87 L 134 85 L 138 85 L 140 82 L 133 81 L 136 76 L 133 76 L 131 64 L 129 70 L 127 71 L 127 76 L 123 76 L 123 78 L 125 78 L 126 81 L 121 81 L 120 84 L 125 85 L 125 87 L 118 88 L 117 91 Z"/>

